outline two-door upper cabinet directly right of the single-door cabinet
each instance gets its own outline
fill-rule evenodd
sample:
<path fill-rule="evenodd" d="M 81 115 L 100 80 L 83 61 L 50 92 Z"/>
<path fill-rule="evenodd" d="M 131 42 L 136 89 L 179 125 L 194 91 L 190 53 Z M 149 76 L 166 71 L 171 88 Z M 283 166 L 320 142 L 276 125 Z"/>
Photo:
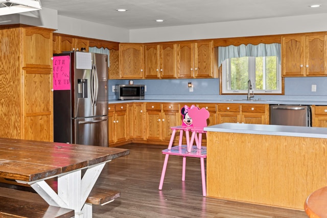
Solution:
<path fill-rule="evenodd" d="M 176 78 L 176 44 L 145 45 L 145 78 Z"/>

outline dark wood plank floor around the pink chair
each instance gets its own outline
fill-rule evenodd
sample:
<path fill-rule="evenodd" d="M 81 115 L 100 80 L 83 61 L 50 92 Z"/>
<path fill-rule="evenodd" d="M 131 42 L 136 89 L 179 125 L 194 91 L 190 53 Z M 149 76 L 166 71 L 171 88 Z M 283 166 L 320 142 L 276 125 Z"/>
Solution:
<path fill-rule="evenodd" d="M 304 211 L 202 197 L 200 160 L 186 162 L 181 181 L 181 157 L 170 156 L 164 187 L 158 190 L 166 147 L 130 144 L 130 155 L 106 164 L 98 186 L 121 191 L 121 197 L 94 206 L 94 217 L 215 217 L 215 218 L 308 218 Z M 303 199 L 303 202 L 305 199 Z"/>

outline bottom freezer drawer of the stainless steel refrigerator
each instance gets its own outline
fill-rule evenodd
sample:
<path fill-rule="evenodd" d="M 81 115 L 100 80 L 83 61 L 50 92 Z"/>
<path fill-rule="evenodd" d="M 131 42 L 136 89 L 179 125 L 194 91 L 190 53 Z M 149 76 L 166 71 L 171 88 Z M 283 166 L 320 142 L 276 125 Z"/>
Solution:
<path fill-rule="evenodd" d="M 73 143 L 108 147 L 108 116 L 74 119 Z"/>

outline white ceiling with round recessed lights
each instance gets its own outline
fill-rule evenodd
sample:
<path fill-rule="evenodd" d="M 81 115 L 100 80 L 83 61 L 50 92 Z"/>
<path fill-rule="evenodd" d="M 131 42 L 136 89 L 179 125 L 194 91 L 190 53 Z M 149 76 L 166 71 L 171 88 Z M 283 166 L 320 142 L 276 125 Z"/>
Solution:
<path fill-rule="evenodd" d="M 327 13 L 326 0 L 40 0 L 58 15 L 142 29 Z M 319 4 L 320 8 L 309 5 Z M 115 9 L 125 8 L 127 12 Z M 164 22 L 155 22 L 164 19 Z"/>

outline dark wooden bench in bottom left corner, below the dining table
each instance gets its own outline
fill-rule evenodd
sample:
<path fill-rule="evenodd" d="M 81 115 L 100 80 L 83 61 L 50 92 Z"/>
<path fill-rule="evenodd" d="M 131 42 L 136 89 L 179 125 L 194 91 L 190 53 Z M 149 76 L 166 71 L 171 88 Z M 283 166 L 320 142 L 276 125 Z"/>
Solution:
<path fill-rule="evenodd" d="M 0 217 L 73 217 L 74 210 L 50 206 L 37 193 L 0 187 Z"/>

